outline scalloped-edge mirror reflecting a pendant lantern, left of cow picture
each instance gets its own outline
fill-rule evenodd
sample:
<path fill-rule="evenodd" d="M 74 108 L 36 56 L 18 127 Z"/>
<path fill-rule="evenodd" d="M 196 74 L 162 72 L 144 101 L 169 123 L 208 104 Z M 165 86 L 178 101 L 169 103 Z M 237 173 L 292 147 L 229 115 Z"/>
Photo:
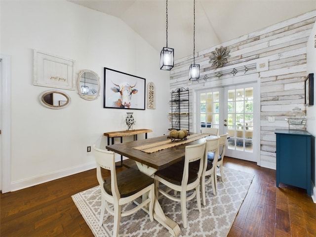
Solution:
<path fill-rule="evenodd" d="M 85 100 L 95 100 L 100 95 L 100 78 L 91 70 L 83 70 L 78 78 L 79 95 Z"/>

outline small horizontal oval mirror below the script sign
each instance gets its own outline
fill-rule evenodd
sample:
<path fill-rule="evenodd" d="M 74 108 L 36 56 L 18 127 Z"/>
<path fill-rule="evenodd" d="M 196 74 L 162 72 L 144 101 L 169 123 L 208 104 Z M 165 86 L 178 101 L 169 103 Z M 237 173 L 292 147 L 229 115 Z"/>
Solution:
<path fill-rule="evenodd" d="M 46 90 L 40 94 L 40 103 L 49 109 L 62 109 L 70 104 L 70 97 L 59 90 Z"/>

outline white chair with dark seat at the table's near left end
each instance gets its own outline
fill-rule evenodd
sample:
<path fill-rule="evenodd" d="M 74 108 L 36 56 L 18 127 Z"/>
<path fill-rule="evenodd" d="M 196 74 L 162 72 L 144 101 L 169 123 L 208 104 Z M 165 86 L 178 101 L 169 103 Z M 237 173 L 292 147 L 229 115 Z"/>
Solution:
<path fill-rule="evenodd" d="M 114 152 L 96 148 L 95 145 L 93 145 L 93 151 L 97 166 L 97 179 L 101 188 L 99 226 L 102 226 L 105 209 L 114 216 L 114 237 L 118 237 L 120 217 L 131 215 L 143 207 L 149 206 L 150 220 L 154 221 L 154 179 L 131 168 L 116 173 Z M 111 176 L 104 180 L 101 168 L 110 170 Z M 138 197 L 143 198 L 142 203 L 130 210 L 122 211 L 122 205 L 131 203 Z M 114 208 L 112 209 L 108 203 L 113 204 Z"/>

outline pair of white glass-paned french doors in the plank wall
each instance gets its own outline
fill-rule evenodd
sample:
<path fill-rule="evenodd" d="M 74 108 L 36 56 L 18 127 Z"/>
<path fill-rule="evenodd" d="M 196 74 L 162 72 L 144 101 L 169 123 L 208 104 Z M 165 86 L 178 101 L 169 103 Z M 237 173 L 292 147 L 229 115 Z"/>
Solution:
<path fill-rule="evenodd" d="M 256 95 L 255 83 L 198 91 L 197 131 L 200 127 L 216 127 L 219 134 L 227 132 L 225 156 L 257 161 L 260 98 Z"/>

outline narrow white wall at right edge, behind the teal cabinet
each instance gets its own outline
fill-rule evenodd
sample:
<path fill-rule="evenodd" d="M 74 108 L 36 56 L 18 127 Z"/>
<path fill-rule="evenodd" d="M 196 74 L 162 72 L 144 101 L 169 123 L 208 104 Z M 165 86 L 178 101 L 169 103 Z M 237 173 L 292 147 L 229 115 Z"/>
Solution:
<path fill-rule="evenodd" d="M 314 137 L 316 137 L 316 24 L 314 24 L 314 27 L 312 29 L 312 33 L 309 37 L 309 40 L 307 42 L 307 74 L 314 73 L 314 106 L 308 106 L 306 107 L 306 115 L 308 118 L 307 123 L 307 131 L 312 134 Z M 316 144 L 314 143 L 314 156 L 316 154 Z M 316 202 L 316 177 L 315 177 L 315 171 L 316 171 L 316 163 L 315 163 L 315 157 L 314 161 L 312 162 L 312 168 L 314 169 L 314 173 L 312 172 L 312 182 L 314 183 L 314 190 L 313 190 L 313 199 L 314 202 Z"/>

